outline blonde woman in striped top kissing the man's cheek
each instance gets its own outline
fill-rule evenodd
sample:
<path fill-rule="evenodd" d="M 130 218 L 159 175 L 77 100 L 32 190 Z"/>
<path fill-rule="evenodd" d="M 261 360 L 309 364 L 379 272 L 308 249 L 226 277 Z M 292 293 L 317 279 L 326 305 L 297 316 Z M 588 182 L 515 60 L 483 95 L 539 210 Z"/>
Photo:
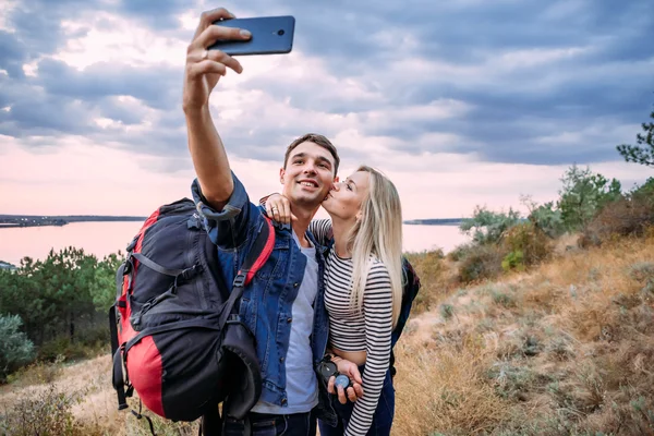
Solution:
<path fill-rule="evenodd" d="M 377 170 L 362 166 L 337 183 L 323 202 L 330 220 L 310 230 L 331 246 L 325 269 L 332 361 L 360 366 L 364 395 L 341 404 L 332 396 L 338 426 L 319 422 L 320 435 L 389 435 L 395 389 L 389 371 L 390 337 L 402 301 L 402 211 L 398 192 Z M 281 195 L 266 201 L 277 221 L 290 222 Z M 334 393 L 334 379 L 329 384 Z"/>

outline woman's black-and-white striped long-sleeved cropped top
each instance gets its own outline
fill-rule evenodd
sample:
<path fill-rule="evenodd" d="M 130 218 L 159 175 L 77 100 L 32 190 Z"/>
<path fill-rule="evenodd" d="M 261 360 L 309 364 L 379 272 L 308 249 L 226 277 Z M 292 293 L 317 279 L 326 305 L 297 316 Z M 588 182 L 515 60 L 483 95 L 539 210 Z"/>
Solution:
<path fill-rule="evenodd" d="M 314 220 L 310 230 L 318 242 L 331 233 L 330 220 Z M 329 342 L 342 351 L 365 351 L 364 395 L 358 400 L 346 435 L 365 435 L 373 422 L 390 359 L 392 291 L 386 266 L 371 257 L 363 311 L 352 307 L 353 263 L 332 249 L 325 266 L 325 306 L 329 313 Z"/>

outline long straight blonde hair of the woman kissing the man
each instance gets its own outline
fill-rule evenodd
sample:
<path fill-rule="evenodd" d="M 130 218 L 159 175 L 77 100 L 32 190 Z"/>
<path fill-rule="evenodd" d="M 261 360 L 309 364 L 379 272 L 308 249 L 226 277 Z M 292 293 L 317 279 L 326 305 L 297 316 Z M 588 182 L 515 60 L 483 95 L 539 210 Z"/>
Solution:
<path fill-rule="evenodd" d="M 370 174 L 370 187 L 361 204 L 362 218 L 350 231 L 348 245 L 352 251 L 352 294 L 350 304 L 363 311 L 363 294 L 375 256 L 388 269 L 392 289 L 392 326 L 402 304 L 402 206 L 392 182 L 379 171 L 361 166 L 356 171 Z"/>

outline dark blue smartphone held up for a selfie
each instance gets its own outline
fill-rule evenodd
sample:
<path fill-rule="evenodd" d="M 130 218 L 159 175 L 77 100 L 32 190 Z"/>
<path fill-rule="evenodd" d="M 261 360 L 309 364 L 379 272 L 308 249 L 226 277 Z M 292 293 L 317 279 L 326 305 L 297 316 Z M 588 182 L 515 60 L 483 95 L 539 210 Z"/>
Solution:
<path fill-rule="evenodd" d="M 252 33 L 250 40 L 217 40 L 208 49 L 222 50 L 230 56 L 289 53 L 293 49 L 295 19 L 291 15 L 255 19 L 219 20 L 214 24 L 244 28 Z"/>

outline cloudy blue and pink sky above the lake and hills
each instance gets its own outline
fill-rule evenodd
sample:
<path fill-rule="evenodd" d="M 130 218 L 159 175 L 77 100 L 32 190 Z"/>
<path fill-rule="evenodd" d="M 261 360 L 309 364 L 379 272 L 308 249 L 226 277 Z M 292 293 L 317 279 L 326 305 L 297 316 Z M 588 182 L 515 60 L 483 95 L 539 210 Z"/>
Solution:
<path fill-rule="evenodd" d="M 211 114 L 252 199 L 316 132 L 374 166 L 403 218 L 556 199 L 571 165 L 629 189 L 654 104 L 651 0 L 4 0 L 0 214 L 149 215 L 190 196 L 181 108 L 199 14 L 293 15 L 290 55 L 240 57 Z"/>

